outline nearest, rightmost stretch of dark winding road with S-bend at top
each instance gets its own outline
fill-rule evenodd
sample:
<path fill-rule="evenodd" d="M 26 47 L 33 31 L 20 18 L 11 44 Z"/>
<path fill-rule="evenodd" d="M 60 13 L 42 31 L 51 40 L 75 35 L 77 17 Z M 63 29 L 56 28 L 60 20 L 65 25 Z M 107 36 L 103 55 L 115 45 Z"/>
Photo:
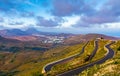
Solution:
<path fill-rule="evenodd" d="M 107 54 L 101 58 L 100 60 L 97 60 L 95 62 L 91 62 L 87 65 L 84 65 L 82 67 L 78 67 L 76 69 L 73 69 L 73 70 L 70 70 L 70 71 L 67 71 L 67 72 L 64 72 L 62 74 L 59 74 L 57 76 L 74 76 L 74 75 L 78 75 L 79 73 L 81 73 L 83 70 L 87 69 L 88 67 L 91 67 L 95 64 L 101 64 L 101 63 L 104 63 L 106 60 L 112 58 L 114 56 L 114 51 L 110 48 L 110 45 L 114 44 L 115 41 L 112 41 L 110 44 L 107 44 L 105 45 L 105 49 L 107 50 Z"/>

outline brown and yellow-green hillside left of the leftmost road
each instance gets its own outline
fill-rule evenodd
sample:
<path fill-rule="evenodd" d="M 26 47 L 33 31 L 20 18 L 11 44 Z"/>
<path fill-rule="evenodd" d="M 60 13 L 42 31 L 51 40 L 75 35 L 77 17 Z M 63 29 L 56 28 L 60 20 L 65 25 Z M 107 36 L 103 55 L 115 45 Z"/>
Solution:
<path fill-rule="evenodd" d="M 49 62 L 56 61 L 81 51 L 84 43 L 58 46 L 48 51 L 21 50 L 17 52 L 0 52 L 0 70 L 18 71 L 16 76 L 42 76 L 42 68 Z"/>

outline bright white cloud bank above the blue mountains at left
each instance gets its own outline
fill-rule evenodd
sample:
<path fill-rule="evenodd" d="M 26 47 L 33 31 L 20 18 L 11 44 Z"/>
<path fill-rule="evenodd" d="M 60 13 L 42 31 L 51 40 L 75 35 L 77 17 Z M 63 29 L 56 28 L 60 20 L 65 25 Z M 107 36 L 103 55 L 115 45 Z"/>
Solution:
<path fill-rule="evenodd" d="M 22 22 L 23 24 L 10 25 L 10 23 Z M 34 18 L 8 18 L 4 17 L 4 22 L 0 23 L 5 28 L 27 28 L 30 25 L 35 26 L 36 21 Z"/>

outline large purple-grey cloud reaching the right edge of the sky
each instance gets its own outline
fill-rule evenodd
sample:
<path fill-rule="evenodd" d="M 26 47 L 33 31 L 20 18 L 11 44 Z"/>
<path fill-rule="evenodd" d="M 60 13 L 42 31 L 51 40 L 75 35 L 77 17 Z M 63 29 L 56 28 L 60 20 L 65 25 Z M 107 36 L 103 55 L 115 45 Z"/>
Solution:
<path fill-rule="evenodd" d="M 94 24 L 120 22 L 120 0 L 108 0 L 99 10 L 91 15 L 85 14 L 75 26 L 89 27 Z M 87 12 L 87 10 L 86 10 Z M 97 25 L 98 26 L 98 25 Z"/>

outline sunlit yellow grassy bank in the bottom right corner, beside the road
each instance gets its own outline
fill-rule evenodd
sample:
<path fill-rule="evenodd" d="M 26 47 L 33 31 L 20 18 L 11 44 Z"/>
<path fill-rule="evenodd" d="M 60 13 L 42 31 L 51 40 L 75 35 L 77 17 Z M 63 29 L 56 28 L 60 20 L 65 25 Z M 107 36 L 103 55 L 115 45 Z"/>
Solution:
<path fill-rule="evenodd" d="M 115 55 L 105 63 L 95 65 L 79 74 L 79 76 L 120 76 L 120 41 L 111 46 Z"/>

